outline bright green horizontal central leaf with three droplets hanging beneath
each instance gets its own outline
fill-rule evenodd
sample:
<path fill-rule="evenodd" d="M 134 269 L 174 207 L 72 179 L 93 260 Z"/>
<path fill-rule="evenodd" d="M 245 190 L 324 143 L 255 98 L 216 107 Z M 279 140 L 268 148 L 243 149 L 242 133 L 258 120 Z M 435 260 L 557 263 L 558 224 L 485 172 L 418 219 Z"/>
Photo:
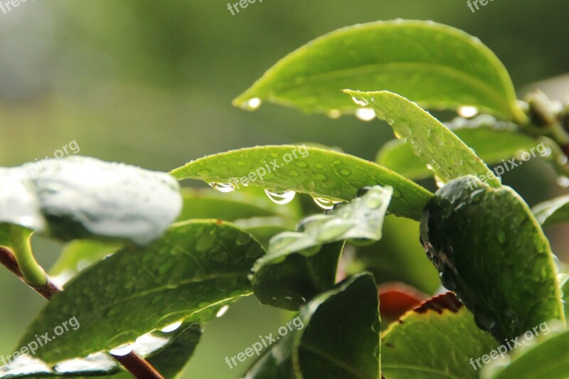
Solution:
<path fill-rule="evenodd" d="M 292 156 L 292 151 L 300 151 L 302 156 L 284 163 L 285 156 Z M 273 163 L 278 169 L 272 169 Z M 265 164 L 271 171 L 265 169 Z M 260 169 L 265 170 L 265 175 L 251 181 L 251 186 L 309 193 L 315 198 L 349 201 L 364 186 L 391 186 L 393 199 L 389 211 L 415 220 L 432 197 L 425 188 L 370 161 L 307 146 L 258 146 L 228 151 L 191 161 L 171 174 L 180 180 L 193 178 L 240 188 L 241 178 Z"/>

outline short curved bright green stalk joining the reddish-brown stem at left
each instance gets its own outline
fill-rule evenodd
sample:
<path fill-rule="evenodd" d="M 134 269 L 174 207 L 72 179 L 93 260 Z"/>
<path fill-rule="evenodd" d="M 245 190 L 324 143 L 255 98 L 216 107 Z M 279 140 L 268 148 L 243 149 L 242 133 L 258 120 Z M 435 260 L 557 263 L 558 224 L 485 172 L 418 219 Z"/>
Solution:
<path fill-rule="evenodd" d="M 48 276 L 31 252 L 30 237 L 33 230 L 18 225 L 10 226 L 11 249 L 14 251 L 23 280 L 31 287 L 45 287 Z"/>

